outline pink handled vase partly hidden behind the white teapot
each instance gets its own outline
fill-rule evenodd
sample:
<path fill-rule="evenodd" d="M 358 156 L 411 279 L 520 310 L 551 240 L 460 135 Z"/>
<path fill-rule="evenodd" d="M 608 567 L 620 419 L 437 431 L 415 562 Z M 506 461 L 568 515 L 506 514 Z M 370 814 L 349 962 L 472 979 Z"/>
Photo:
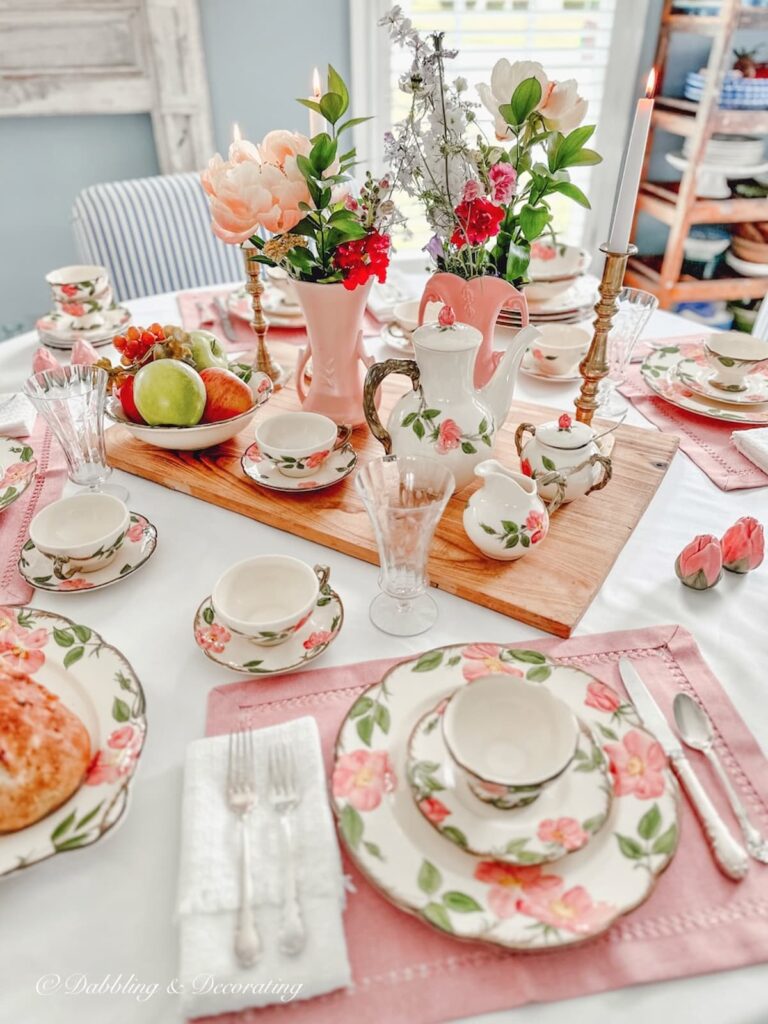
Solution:
<path fill-rule="evenodd" d="M 420 324 L 424 323 L 424 310 L 429 302 L 452 306 L 460 324 L 471 324 L 482 335 L 475 360 L 475 387 L 487 384 L 504 354 L 494 351 L 496 319 L 502 309 L 517 309 L 520 326 L 526 327 L 528 323 L 525 296 L 502 278 L 470 278 L 467 281 L 455 273 L 433 273 L 421 297 Z"/>

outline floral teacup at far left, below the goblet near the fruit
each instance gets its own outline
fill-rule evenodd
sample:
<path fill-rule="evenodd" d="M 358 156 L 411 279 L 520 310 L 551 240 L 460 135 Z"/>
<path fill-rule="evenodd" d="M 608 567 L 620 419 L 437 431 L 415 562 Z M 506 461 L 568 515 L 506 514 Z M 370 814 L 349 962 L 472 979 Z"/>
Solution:
<path fill-rule="evenodd" d="M 128 508 L 112 495 L 77 495 L 52 502 L 30 523 L 30 540 L 53 559 L 54 574 L 95 572 L 115 558 L 130 525 Z"/>

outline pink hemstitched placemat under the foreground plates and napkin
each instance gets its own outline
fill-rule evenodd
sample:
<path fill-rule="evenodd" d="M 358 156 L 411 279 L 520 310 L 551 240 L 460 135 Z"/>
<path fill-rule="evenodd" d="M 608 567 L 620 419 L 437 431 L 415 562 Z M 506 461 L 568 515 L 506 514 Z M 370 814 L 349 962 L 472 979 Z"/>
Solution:
<path fill-rule="evenodd" d="M 734 785 L 756 823 L 768 826 L 766 759 L 682 627 L 547 639 L 525 646 L 584 668 L 620 690 L 618 658 L 632 657 L 668 716 L 677 690 L 697 697 L 716 723 L 718 753 Z M 261 728 L 309 714 L 317 721 L 328 769 L 347 709 L 398 660 L 219 686 L 209 694 L 207 734 L 228 731 L 241 722 Z M 735 833 L 709 765 L 695 753 L 691 760 Z M 568 951 L 516 954 L 451 939 L 392 906 L 346 855 L 345 870 L 356 887 L 344 919 L 353 987 L 306 1002 L 204 1020 L 430 1024 L 768 961 L 768 868 L 753 862 L 748 878 L 738 884 L 722 876 L 684 799 L 680 848 L 648 902 L 599 939 Z"/>

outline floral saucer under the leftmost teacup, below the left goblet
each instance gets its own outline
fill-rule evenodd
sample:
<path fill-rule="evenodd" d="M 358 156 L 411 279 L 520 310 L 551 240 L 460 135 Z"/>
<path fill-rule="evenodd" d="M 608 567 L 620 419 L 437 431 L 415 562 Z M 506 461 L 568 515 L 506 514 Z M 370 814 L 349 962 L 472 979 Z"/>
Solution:
<path fill-rule="evenodd" d="M 138 512 L 130 513 L 130 526 L 115 558 L 95 572 L 62 569 L 50 555 L 39 551 L 32 539 L 22 548 L 18 571 L 32 587 L 57 594 L 100 590 L 140 569 L 152 557 L 158 544 L 158 530 Z"/>

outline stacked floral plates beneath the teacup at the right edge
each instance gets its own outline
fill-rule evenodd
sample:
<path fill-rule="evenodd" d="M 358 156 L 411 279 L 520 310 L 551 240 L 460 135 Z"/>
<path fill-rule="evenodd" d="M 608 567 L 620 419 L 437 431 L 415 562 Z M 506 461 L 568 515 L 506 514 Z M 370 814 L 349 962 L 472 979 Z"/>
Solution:
<path fill-rule="evenodd" d="M 701 342 L 666 345 L 646 357 L 640 372 L 659 397 L 689 413 L 729 423 L 768 424 L 768 368 L 744 378 L 743 391 L 723 391 L 710 383 L 709 367 Z"/>

